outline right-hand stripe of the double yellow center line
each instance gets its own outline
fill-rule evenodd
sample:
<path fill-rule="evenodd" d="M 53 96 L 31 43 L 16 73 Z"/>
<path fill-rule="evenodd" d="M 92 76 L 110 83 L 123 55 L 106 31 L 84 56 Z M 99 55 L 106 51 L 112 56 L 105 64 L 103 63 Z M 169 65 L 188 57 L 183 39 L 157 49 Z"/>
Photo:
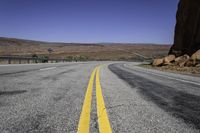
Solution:
<path fill-rule="evenodd" d="M 97 99 L 97 116 L 100 133 L 112 133 L 108 115 L 106 112 L 105 103 L 103 100 L 103 94 L 99 78 L 100 67 L 97 68 L 96 72 L 96 99 Z"/>

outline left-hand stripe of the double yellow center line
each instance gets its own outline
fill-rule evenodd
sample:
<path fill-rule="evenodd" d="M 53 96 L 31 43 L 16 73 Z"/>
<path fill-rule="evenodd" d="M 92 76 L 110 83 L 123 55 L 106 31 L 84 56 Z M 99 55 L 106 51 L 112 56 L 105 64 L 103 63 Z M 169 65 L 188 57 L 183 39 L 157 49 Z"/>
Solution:
<path fill-rule="evenodd" d="M 89 133 L 90 132 L 90 110 L 91 110 L 91 100 L 92 100 L 92 89 L 94 83 L 94 76 L 97 68 L 95 68 L 90 76 L 87 91 L 85 94 L 85 100 L 82 107 L 82 112 L 78 124 L 77 133 Z"/>

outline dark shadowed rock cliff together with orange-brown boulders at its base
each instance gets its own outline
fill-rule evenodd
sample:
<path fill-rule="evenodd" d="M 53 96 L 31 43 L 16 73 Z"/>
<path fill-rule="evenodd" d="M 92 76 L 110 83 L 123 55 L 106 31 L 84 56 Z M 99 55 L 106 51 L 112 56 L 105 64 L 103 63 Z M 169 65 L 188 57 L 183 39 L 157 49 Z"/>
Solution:
<path fill-rule="evenodd" d="M 155 59 L 153 66 L 200 66 L 200 0 L 180 0 L 176 15 L 174 45 L 169 55 Z"/>

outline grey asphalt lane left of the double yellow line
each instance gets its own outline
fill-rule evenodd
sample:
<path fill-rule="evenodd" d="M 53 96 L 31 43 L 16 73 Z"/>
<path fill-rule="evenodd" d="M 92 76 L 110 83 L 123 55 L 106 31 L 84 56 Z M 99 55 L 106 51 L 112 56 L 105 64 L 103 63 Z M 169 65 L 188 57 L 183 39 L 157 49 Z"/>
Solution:
<path fill-rule="evenodd" d="M 88 79 L 96 65 L 66 63 L 50 70 L 34 65 L 37 70 L 1 75 L 0 131 L 76 132 Z M 31 66 L 23 67 L 31 70 Z"/>

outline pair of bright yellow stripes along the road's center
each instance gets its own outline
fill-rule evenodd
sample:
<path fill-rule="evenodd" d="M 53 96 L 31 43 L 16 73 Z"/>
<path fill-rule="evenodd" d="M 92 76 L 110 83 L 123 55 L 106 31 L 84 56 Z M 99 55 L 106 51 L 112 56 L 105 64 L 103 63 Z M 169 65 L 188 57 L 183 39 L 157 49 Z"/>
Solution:
<path fill-rule="evenodd" d="M 91 101 L 92 101 L 92 90 L 94 78 L 96 75 L 96 104 L 97 104 L 97 117 L 98 117 L 98 125 L 100 133 L 112 133 L 112 129 L 110 126 L 110 122 L 108 119 L 101 83 L 99 78 L 100 66 L 96 67 L 91 76 L 88 83 L 88 88 L 85 95 L 85 100 L 82 107 L 82 112 L 78 125 L 78 133 L 89 133 L 90 132 L 90 112 L 91 112 Z"/>

